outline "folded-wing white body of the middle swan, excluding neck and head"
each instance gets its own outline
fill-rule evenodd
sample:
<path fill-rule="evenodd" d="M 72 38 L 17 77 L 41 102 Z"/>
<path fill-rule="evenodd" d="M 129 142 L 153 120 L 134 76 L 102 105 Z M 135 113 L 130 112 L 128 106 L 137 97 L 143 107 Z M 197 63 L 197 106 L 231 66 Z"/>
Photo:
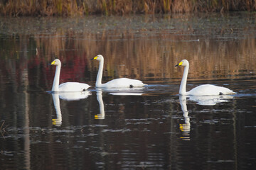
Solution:
<path fill-rule="evenodd" d="M 146 86 L 142 81 L 137 79 L 128 79 L 128 78 L 119 78 L 108 81 L 105 84 L 102 84 L 102 87 L 105 88 L 132 88 Z"/>

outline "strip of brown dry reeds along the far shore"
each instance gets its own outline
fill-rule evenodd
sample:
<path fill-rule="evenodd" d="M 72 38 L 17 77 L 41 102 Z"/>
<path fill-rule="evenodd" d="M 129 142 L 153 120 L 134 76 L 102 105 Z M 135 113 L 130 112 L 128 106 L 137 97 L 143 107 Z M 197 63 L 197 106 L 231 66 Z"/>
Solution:
<path fill-rule="evenodd" d="M 256 11 L 255 0 L 0 0 L 1 16 Z"/>

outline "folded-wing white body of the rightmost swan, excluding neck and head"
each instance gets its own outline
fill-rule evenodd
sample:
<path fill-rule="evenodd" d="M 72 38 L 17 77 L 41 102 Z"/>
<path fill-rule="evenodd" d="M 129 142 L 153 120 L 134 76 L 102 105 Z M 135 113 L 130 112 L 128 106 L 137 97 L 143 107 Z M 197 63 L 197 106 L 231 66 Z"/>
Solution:
<path fill-rule="evenodd" d="M 191 91 L 187 92 L 187 95 L 191 96 L 208 96 L 208 95 L 223 95 L 223 94 L 235 94 L 234 91 L 223 87 L 223 86 L 215 86 L 212 84 L 204 84 L 201 86 L 197 86 Z"/>

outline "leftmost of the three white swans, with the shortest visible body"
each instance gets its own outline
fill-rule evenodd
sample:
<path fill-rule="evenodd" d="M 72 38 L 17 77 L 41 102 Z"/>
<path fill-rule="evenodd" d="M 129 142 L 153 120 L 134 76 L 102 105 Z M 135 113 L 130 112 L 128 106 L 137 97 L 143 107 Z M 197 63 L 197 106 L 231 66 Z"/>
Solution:
<path fill-rule="evenodd" d="M 60 92 L 60 91 L 85 91 L 90 86 L 88 84 L 82 84 L 77 82 L 66 82 L 63 84 L 60 84 L 60 67 L 61 62 L 58 59 L 53 60 L 51 62 L 51 65 L 56 66 L 55 76 L 53 80 L 53 92 Z M 59 85 L 60 84 L 60 85 Z"/>

